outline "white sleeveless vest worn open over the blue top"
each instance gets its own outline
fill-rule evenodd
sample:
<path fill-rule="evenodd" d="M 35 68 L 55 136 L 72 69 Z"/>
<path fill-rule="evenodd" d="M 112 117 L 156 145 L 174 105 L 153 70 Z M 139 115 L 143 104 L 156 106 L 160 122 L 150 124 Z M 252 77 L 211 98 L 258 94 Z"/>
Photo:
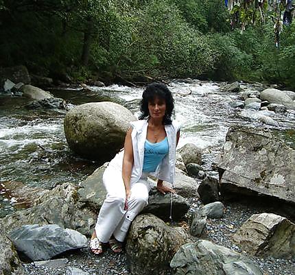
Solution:
<path fill-rule="evenodd" d="M 147 136 L 147 119 L 132 121 L 131 139 L 133 147 L 133 167 L 130 178 L 130 184 L 137 182 L 143 171 L 143 156 L 144 156 L 144 145 Z M 176 161 L 176 134 L 180 130 L 180 125 L 176 121 L 172 121 L 172 124 L 165 125 L 165 131 L 167 134 L 167 140 L 169 145 L 169 152 L 163 158 L 161 163 L 158 165 L 154 173 L 150 173 L 152 176 L 160 180 L 165 180 L 170 183 L 174 183 L 175 178 L 175 161 Z M 110 161 L 110 166 L 117 169 L 122 169 L 123 165 L 123 150 L 119 152 L 113 160 Z"/>

